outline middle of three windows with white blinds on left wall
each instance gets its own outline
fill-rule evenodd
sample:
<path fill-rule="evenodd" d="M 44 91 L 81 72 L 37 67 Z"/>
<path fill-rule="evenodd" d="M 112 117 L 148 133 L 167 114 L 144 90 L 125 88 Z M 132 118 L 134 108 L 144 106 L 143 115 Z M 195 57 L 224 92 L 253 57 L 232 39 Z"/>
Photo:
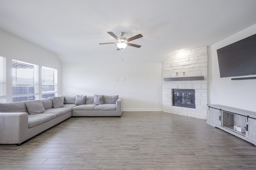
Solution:
<path fill-rule="evenodd" d="M 12 101 L 38 99 L 38 65 L 12 60 Z"/>

